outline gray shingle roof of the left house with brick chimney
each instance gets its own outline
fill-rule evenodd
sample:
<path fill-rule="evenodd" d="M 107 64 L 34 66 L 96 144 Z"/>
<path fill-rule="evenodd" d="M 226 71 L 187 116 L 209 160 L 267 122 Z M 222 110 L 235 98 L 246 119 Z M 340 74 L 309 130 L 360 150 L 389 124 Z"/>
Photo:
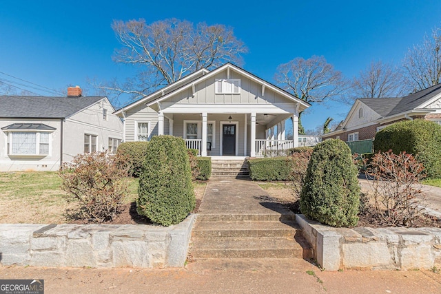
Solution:
<path fill-rule="evenodd" d="M 66 118 L 103 98 L 0 96 L 0 118 Z"/>

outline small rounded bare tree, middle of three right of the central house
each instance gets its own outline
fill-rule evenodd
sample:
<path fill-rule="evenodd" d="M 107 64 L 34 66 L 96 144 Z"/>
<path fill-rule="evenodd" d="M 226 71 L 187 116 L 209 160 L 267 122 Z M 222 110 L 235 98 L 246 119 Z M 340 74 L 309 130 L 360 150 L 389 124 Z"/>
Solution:
<path fill-rule="evenodd" d="M 354 99 L 398 97 L 402 94 L 402 74 L 398 68 L 382 61 L 371 61 L 359 76 L 353 78 L 351 85 L 351 97 Z"/>

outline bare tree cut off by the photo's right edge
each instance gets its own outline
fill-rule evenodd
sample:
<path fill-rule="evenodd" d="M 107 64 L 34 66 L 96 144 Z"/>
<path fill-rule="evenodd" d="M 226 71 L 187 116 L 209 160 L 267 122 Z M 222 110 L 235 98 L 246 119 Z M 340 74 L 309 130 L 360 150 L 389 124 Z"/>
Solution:
<path fill-rule="evenodd" d="M 432 35 L 424 36 L 422 44 L 409 48 L 402 65 L 409 90 L 417 92 L 441 81 L 441 28 L 434 28 Z"/>

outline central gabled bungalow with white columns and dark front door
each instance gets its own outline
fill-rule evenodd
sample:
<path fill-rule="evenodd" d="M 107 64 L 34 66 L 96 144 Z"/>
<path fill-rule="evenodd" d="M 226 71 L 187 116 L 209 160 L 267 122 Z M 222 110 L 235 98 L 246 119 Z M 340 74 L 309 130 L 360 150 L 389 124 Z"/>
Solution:
<path fill-rule="evenodd" d="M 201 156 L 268 156 L 298 145 L 298 113 L 309 107 L 236 65 L 198 70 L 114 112 L 125 142 L 170 134 Z M 293 137 L 285 120 L 293 120 Z"/>

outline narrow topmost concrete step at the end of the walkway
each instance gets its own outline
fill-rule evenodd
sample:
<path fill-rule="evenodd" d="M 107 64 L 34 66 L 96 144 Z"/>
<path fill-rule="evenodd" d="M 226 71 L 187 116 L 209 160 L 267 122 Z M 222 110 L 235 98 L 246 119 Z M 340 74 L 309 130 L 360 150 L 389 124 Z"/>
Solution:
<path fill-rule="evenodd" d="M 213 214 L 199 214 L 198 220 L 201 222 L 235 222 L 235 221 L 296 221 L 296 214 L 292 211 L 284 211 L 283 213 L 256 213 L 256 214 L 225 214 L 225 213 L 213 213 Z"/>

